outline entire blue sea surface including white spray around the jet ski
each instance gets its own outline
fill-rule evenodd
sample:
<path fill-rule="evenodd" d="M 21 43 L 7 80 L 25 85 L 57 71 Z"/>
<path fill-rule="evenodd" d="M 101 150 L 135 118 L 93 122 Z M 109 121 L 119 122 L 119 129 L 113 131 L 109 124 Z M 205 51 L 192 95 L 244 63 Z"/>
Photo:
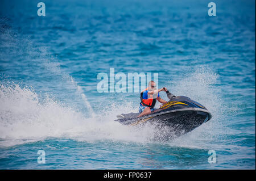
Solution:
<path fill-rule="evenodd" d="M 255 1 L 214 2 L 1 1 L 0 169 L 255 169 Z M 97 91 L 110 68 L 158 73 L 213 118 L 170 141 L 121 125 L 140 100 Z"/>

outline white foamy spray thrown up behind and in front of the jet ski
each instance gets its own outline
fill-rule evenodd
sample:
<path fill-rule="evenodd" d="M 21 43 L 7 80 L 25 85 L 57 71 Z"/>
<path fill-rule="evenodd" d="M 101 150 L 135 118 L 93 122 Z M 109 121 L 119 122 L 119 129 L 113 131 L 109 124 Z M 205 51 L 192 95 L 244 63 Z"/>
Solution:
<path fill-rule="evenodd" d="M 202 81 L 201 78 L 197 78 L 198 76 L 209 76 L 209 80 Z M 221 101 L 212 87 L 216 79 L 217 75 L 214 73 L 196 70 L 174 83 L 170 91 L 177 92 L 176 95 L 188 95 L 202 103 L 212 112 L 213 119 L 191 133 L 171 141 L 171 145 L 208 147 L 209 144 L 206 142 L 216 139 L 214 135 L 221 132 L 221 115 L 218 114 Z M 192 80 L 194 83 L 189 84 Z M 156 130 L 151 125 L 137 129 L 113 121 L 116 119 L 115 116 L 121 113 L 136 112 L 137 105 L 134 107 L 126 103 L 113 103 L 108 110 L 102 110 L 100 115 L 88 118 L 81 112 L 50 98 L 42 100 L 38 94 L 26 87 L 22 89 L 18 85 L 1 85 L 0 88 L 0 146 L 45 140 L 49 137 L 71 138 L 78 141 L 133 141 L 145 144 L 154 140 L 155 133 L 164 134 L 164 130 Z M 198 91 L 194 89 L 200 89 L 199 97 L 196 97 Z M 77 91 L 81 93 L 79 88 Z M 183 94 L 182 91 L 190 93 Z"/>

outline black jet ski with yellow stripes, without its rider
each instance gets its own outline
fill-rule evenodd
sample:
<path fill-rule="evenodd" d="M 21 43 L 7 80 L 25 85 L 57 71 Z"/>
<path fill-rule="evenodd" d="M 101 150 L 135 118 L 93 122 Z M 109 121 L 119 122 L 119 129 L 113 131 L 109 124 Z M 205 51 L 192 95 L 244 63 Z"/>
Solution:
<path fill-rule="evenodd" d="M 153 124 L 165 130 L 170 128 L 171 137 L 179 137 L 212 118 L 207 108 L 187 96 L 174 96 L 170 92 L 167 96 L 170 100 L 149 115 L 137 117 L 139 113 L 121 114 L 115 121 L 131 127 Z"/>

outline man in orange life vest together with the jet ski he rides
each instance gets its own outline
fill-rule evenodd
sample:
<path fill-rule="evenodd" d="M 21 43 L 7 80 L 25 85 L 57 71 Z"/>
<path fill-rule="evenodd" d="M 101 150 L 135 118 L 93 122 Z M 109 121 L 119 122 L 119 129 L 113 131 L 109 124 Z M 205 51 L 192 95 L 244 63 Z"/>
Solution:
<path fill-rule="evenodd" d="M 159 92 L 165 91 L 168 102 L 160 98 Z M 155 109 L 155 103 L 158 100 L 163 105 Z M 118 121 L 121 124 L 136 126 L 144 124 L 162 125 L 171 128 L 172 134 L 181 136 L 212 118 L 210 112 L 198 102 L 186 97 L 175 96 L 165 87 L 156 89 L 155 82 L 150 81 L 147 89 L 141 92 L 141 103 L 139 113 L 127 113 L 118 115 Z"/>

